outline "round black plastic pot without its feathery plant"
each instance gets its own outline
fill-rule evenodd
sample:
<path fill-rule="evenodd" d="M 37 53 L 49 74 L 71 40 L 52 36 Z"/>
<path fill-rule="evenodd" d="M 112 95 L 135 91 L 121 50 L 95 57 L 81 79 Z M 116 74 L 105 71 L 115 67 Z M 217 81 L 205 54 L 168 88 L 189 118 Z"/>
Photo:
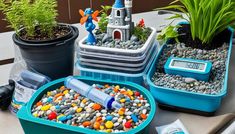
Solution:
<path fill-rule="evenodd" d="M 49 41 L 25 41 L 13 35 L 15 45 L 19 46 L 21 55 L 30 70 L 47 75 L 52 80 L 73 74 L 75 40 L 78 29 L 68 26 L 68 35 Z"/>

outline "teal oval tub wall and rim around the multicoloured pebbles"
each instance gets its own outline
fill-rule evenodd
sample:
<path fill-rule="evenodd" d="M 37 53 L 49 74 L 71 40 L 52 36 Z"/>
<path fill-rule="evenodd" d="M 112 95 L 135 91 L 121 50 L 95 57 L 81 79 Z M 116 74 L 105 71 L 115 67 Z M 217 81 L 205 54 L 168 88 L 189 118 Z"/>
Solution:
<path fill-rule="evenodd" d="M 154 115 L 156 113 L 156 104 L 154 101 L 154 98 L 150 94 L 150 92 L 143 88 L 140 85 L 130 83 L 130 82 L 113 82 L 113 81 L 106 81 L 106 80 L 95 80 L 90 79 L 87 77 L 76 77 L 78 80 L 81 80 L 87 84 L 118 84 L 120 86 L 125 86 L 127 88 L 139 91 L 141 94 L 143 94 L 147 100 L 149 101 L 151 111 L 149 113 L 148 118 L 138 127 L 131 129 L 127 132 L 122 132 L 120 134 L 145 134 L 148 133 L 148 128 L 150 126 L 151 121 L 154 118 Z M 32 115 L 31 109 L 33 105 L 38 102 L 42 96 L 47 93 L 47 91 L 54 90 L 56 88 L 59 88 L 60 86 L 64 85 L 65 78 L 55 80 L 53 82 L 50 82 L 43 87 L 41 87 L 30 99 L 27 105 L 23 106 L 19 112 L 17 113 L 17 117 L 20 120 L 21 126 L 24 129 L 24 132 L 26 134 L 102 134 L 104 132 L 98 132 L 95 130 L 91 130 L 88 128 L 81 128 L 77 126 L 70 126 L 67 124 L 61 124 L 56 123 L 53 121 L 49 121 L 42 118 L 36 118 Z M 116 134 L 116 133 L 115 133 Z"/>

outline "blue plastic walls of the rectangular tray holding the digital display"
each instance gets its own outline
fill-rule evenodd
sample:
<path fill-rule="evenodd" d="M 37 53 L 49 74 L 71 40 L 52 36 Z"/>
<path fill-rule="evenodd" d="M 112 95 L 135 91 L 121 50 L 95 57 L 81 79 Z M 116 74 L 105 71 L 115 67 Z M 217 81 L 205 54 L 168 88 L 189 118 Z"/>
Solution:
<path fill-rule="evenodd" d="M 230 31 L 231 34 L 230 34 L 229 50 L 227 57 L 226 74 L 224 77 L 224 84 L 222 86 L 223 89 L 221 89 L 221 92 L 217 95 L 207 95 L 207 94 L 193 93 L 183 90 L 176 90 L 172 88 L 156 86 L 152 82 L 152 77 L 156 71 L 156 66 L 158 64 L 160 55 L 162 54 L 163 49 L 166 47 L 166 45 L 163 45 L 147 75 L 147 83 L 150 86 L 150 92 L 158 103 L 166 106 L 174 106 L 176 108 L 187 109 L 189 111 L 196 110 L 198 112 L 206 112 L 206 113 L 213 113 L 220 107 L 222 98 L 227 94 L 229 61 L 233 46 L 232 45 L 233 29 L 229 28 L 228 30 Z"/>

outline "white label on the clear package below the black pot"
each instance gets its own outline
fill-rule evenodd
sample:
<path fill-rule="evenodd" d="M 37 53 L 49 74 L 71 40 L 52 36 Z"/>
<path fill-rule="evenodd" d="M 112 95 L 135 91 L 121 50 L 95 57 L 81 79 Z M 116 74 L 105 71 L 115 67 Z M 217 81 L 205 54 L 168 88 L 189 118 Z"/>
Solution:
<path fill-rule="evenodd" d="M 17 102 L 27 103 L 36 90 L 20 85 L 16 82 L 14 99 Z"/>

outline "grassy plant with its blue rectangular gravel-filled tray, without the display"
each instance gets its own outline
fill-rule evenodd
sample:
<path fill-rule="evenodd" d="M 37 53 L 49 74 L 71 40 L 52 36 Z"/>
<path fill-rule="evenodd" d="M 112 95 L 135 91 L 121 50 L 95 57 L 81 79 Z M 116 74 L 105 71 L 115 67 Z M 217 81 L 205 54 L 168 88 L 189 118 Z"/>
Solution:
<path fill-rule="evenodd" d="M 181 5 L 175 5 L 177 2 Z M 172 38 L 167 38 L 147 78 L 150 91 L 161 106 L 170 105 L 203 114 L 212 114 L 220 106 L 227 93 L 233 37 L 233 30 L 228 27 L 235 22 L 234 7 L 232 0 L 175 0 L 170 6 L 160 8 L 180 10 L 186 17 L 175 14 L 171 19 L 187 21 L 176 27 L 167 27 L 158 37 L 163 40 Z M 189 78 L 183 73 L 167 73 L 170 57 L 211 62 L 209 80 Z M 192 73 L 188 74 L 192 76 Z"/>

